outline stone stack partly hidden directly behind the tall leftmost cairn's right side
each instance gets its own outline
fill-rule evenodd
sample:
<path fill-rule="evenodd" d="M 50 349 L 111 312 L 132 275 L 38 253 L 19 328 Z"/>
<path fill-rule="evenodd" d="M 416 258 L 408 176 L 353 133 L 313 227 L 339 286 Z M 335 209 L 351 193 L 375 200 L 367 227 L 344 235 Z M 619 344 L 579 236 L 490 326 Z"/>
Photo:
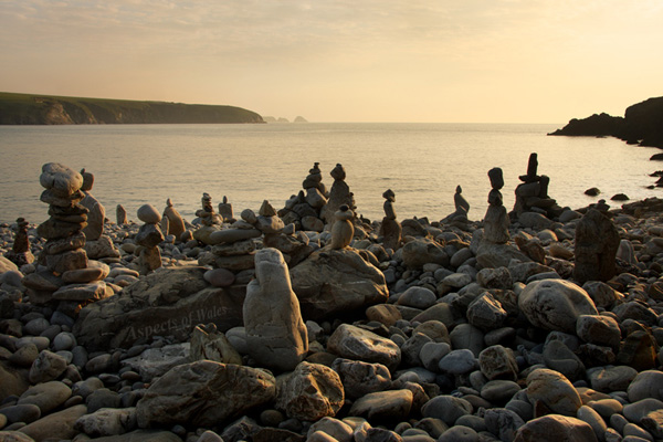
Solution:
<path fill-rule="evenodd" d="M 104 234 L 106 222 L 106 209 L 91 193 L 94 185 L 94 175 L 81 170 L 83 186 L 81 191 L 85 196 L 81 206 L 87 209 L 87 225 L 83 229 L 85 233 L 85 252 L 91 260 L 101 260 L 106 263 L 119 262 L 119 251 L 113 244 L 113 240 Z"/>

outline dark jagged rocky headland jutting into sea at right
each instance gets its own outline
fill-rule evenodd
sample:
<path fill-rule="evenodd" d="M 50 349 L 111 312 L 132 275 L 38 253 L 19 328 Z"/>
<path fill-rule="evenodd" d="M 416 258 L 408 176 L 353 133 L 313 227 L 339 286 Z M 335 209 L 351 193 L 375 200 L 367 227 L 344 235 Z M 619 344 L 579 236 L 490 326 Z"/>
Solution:
<path fill-rule="evenodd" d="M 663 148 L 663 97 L 629 106 L 623 118 L 608 114 L 573 118 L 548 135 L 612 136 L 629 144 Z"/>

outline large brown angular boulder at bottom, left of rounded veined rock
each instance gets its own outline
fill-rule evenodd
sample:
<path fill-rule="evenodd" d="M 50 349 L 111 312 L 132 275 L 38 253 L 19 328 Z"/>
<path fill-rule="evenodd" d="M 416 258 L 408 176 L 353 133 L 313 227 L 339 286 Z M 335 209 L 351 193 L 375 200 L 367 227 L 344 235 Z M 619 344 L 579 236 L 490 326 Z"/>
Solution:
<path fill-rule="evenodd" d="M 276 381 L 267 371 L 201 360 L 175 367 L 152 382 L 136 406 L 136 417 L 139 428 L 209 428 L 269 403 L 275 394 Z"/>

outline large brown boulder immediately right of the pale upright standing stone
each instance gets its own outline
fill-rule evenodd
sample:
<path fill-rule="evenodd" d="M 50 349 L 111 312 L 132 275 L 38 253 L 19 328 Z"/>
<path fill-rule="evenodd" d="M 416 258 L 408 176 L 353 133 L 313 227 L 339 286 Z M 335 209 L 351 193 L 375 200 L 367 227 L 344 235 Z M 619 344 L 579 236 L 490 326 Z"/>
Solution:
<path fill-rule="evenodd" d="M 320 250 L 291 270 L 302 316 L 318 320 L 385 303 L 385 275 L 350 249 Z"/>

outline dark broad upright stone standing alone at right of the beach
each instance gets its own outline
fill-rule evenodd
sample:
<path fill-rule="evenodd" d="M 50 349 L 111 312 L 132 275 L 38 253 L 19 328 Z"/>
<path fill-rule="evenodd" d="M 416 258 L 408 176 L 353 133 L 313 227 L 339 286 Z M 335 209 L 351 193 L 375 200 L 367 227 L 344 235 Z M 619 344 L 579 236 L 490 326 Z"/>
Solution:
<path fill-rule="evenodd" d="M 614 257 L 620 238 L 612 221 L 596 209 L 589 209 L 576 227 L 576 266 L 573 277 L 608 281 L 615 273 Z"/>

